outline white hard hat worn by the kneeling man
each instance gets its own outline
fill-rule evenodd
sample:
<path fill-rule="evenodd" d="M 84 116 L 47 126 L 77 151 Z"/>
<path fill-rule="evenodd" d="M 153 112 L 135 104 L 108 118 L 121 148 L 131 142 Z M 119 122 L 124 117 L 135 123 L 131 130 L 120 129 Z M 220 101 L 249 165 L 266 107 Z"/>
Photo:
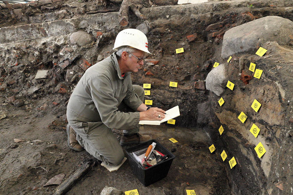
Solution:
<path fill-rule="evenodd" d="M 128 28 L 117 34 L 113 50 L 118 51 L 121 46 L 129 46 L 151 54 L 148 50 L 148 44 L 147 37 L 143 32 Z"/>

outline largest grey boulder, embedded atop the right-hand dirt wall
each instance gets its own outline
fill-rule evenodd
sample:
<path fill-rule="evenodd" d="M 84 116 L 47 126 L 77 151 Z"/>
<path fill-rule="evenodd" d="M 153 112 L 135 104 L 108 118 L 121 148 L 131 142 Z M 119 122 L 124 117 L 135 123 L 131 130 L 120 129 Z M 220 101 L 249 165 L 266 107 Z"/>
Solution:
<path fill-rule="evenodd" d="M 280 45 L 293 43 L 293 22 L 279 16 L 266 16 L 231 28 L 224 34 L 222 58 L 237 53 L 256 51 L 268 41 Z"/>

